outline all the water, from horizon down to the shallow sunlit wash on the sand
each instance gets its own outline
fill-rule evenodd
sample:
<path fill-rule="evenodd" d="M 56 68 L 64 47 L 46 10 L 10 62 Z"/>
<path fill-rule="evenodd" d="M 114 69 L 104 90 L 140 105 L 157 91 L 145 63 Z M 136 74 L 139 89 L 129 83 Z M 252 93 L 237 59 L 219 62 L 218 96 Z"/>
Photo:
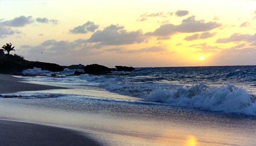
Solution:
<path fill-rule="evenodd" d="M 1 95 L 9 111 L 0 116 L 79 129 L 104 145 L 256 144 L 256 66 L 73 72 L 24 70 L 36 75 L 17 76 L 26 82 L 69 89 Z"/>

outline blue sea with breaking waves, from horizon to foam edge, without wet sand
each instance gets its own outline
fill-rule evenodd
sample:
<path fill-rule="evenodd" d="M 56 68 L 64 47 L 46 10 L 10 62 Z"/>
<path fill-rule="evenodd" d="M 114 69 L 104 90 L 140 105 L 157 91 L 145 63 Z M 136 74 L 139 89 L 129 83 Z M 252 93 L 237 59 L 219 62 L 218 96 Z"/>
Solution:
<path fill-rule="evenodd" d="M 30 81 L 98 87 L 145 102 L 165 103 L 199 110 L 256 116 L 256 66 L 153 67 L 111 75 L 66 76 L 75 70 L 55 73 L 37 68 Z"/>

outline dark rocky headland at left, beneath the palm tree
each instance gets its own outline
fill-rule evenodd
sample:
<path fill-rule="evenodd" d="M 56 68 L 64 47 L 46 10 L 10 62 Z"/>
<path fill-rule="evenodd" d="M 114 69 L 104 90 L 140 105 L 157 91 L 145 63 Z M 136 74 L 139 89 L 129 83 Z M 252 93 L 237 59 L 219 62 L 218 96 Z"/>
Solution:
<path fill-rule="evenodd" d="M 54 63 L 44 63 L 39 61 L 28 61 L 20 56 L 0 55 L 0 73 L 3 74 L 20 74 L 25 69 L 33 69 L 34 67 L 50 72 L 62 72 L 63 67 Z"/>

